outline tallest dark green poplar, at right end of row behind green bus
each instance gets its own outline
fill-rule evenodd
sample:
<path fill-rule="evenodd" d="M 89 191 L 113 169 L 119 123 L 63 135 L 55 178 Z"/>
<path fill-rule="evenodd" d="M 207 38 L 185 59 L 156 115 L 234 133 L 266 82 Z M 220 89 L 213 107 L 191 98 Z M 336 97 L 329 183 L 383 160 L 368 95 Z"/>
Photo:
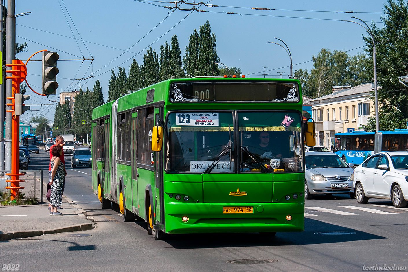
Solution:
<path fill-rule="evenodd" d="M 215 46 L 215 34 L 211 33 L 210 22 L 206 22 L 200 27 L 200 36 L 198 40 L 198 73 L 203 76 L 219 76 L 220 69 Z M 216 62 L 216 63 L 215 63 Z"/>

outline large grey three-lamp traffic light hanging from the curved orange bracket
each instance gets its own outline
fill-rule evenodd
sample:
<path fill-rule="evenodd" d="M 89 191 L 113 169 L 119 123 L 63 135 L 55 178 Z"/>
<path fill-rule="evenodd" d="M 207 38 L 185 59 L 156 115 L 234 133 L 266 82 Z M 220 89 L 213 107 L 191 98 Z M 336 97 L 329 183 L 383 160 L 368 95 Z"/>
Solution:
<path fill-rule="evenodd" d="M 60 72 L 57 68 L 57 60 L 60 58 L 57 52 L 42 52 L 42 94 L 57 94 L 57 74 Z"/>

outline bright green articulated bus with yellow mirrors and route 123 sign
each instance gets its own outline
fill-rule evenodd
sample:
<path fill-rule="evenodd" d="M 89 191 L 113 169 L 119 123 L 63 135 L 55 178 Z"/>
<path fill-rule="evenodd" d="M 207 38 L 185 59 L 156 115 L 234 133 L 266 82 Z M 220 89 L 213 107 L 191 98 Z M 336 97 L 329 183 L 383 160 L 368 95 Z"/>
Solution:
<path fill-rule="evenodd" d="M 164 234 L 304 230 L 299 80 L 169 79 L 92 113 L 92 188 L 102 208 Z"/>

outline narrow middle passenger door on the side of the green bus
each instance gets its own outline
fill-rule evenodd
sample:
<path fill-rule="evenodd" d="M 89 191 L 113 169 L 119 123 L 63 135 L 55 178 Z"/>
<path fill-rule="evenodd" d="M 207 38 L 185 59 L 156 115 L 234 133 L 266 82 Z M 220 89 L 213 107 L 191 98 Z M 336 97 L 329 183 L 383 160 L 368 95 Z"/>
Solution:
<path fill-rule="evenodd" d="M 132 212 L 139 215 L 139 195 L 137 191 L 137 112 L 132 113 Z"/>

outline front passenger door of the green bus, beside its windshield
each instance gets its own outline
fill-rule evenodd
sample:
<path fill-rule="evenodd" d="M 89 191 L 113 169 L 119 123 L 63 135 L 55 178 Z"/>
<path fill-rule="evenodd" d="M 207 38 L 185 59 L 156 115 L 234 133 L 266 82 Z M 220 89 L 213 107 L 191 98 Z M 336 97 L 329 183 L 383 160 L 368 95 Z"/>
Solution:
<path fill-rule="evenodd" d="M 162 125 L 163 120 L 163 107 L 155 108 L 155 120 L 154 124 Z M 152 139 L 153 141 L 154 139 Z M 163 199 L 163 148 L 161 151 L 154 152 L 154 179 L 155 179 L 155 214 L 156 223 L 164 224 L 164 211 L 161 210 L 164 207 Z M 158 221 L 158 222 L 157 222 Z"/>

